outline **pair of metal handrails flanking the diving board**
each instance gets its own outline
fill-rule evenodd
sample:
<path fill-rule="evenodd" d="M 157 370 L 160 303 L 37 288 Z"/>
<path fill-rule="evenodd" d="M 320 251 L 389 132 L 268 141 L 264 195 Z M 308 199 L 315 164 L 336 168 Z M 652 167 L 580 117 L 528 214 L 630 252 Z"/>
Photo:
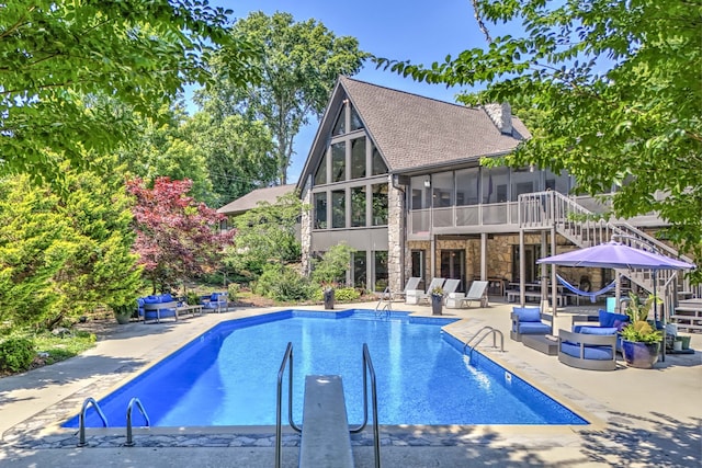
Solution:
<path fill-rule="evenodd" d="M 275 468 L 283 465 L 283 424 L 282 424 L 282 407 L 283 407 L 283 375 L 285 368 L 290 364 L 287 373 L 287 422 L 290 426 L 298 434 L 303 430 L 293 421 L 293 343 L 288 342 L 283 355 L 281 368 L 278 372 L 278 399 L 275 404 Z M 363 422 L 358 427 L 349 429 L 351 434 L 358 434 L 363 431 L 369 421 L 369 392 L 367 380 L 371 380 L 371 404 L 373 410 L 373 447 L 375 454 L 375 468 L 381 468 L 381 435 L 377 422 L 377 389 L 375 383 L 375 369 L 369 353 L 369 345 L 363 343 Z"/>

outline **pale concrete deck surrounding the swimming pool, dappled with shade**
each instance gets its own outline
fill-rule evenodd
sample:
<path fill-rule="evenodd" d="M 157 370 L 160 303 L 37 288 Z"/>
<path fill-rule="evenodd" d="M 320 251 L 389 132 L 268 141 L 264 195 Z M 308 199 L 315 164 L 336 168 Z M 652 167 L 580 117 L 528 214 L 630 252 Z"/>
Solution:
<path fill-rule="evenodd" d="M 337 305 L 337 310 L 372 309 L 375 304 Z M 386 467 L 460 466 L 701 466 L 702 355 L 668 355 L 654 369 L 620 359 L 614 372 L 568 367 L 509 339 L 512 305 L 444 309 L 465 319 L 445 328 L 466 341 L 484 326 L 505 333 L 505 353 L 487 339 L 479 350 L 592 422 L 588 426 L 381 426 Z M 135 447 L 124 447 L 124 430 L 88 430 L 89 445 L 76 447 L 76 431 L 58 423 L 76 414 L 87 397 L 99 399 L 193 338 L 224 320 L 287 308 L 245 308 L 178 322 L 111 327 L 81 356 L 0 379 L 0 466 L 2 467 L 270 467 L 274 430 L 135 430 Z M 320 310 L 321 307 L 294 307 Z M 393 305 L 394 310 L 431 315 L 428 306 Z M 556 328 L 567 327 L 567 315 Z M 485 345 L 486 347 L 484 347 Z M 691 347 L 702 346 L 692 334 Z M 282 356 L 281 356 L 282 358 Z M 360 361 L 360 358 L 359 358 Z M 361 363 L 359 362 L 359 365 Z M 479 404 L 479 402 L 476 402 Z M 148 410 L 148 409 L 147 409 Z M 356 467 L 374 466 L 372 432 L 354 440 Z M 285 437 L 295 436 L 290 434 Z M 298 463 L 299 447 L 283 449 L 283 466 Z"/>

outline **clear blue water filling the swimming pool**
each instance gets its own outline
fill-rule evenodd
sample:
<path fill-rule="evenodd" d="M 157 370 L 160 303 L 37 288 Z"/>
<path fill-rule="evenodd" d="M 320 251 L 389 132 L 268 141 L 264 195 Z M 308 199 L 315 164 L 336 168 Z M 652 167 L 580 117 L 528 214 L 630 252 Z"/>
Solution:
<path fill-rule="evenodd" d="M 341 375 L 349 423 L 363 418 L 362 347 L 376 373 L 381 424 L 587 424 L 587 421 L 441 331 L 451 319 L 373 311 L 283 311 L 220 323 L 131 380 L 100 407 L 126 424 L 137 397 L 152 426 L 275 424 L 278 372 L 293 343 L 293 415 L 302 423 L 304 378 Z M 287 376 L 284 381 L 286 421 Z M 141 425 L 134 412 L 135 425 Z M 78 418 L 64 426 L 76 427 Z M 88 426 L 101 426 L 93 410 Z"/>

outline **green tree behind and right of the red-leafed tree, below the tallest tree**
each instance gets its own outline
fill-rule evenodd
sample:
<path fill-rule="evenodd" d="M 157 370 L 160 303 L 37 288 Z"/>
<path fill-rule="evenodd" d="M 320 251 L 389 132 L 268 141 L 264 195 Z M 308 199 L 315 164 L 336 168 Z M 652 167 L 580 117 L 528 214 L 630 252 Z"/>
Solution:
<path fill-rule="evenodd" d="M 262 122 L 237 114 L 218 119 L 199 112 L 181 130 L 183 138 L 203 153 L 214 192 L 213 206 L 275 181 L 273 142 Z"/>

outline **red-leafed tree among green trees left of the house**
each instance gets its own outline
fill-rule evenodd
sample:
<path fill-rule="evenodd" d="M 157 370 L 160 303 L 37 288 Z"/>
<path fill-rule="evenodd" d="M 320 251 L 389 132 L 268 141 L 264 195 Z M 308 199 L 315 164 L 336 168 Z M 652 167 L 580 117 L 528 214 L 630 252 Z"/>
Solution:
<path fill-rule="evenodd" d="M 169 178 L 157 179 L 154 189 L 140 179 L 128 182 L 136 197 L 134 250 L 155 293 L 217 270 L 224 247 L 231 242 L 233 232 L 217 231 L 224 216 L 188 196 L 191 187 L 190 180 Z"/>

